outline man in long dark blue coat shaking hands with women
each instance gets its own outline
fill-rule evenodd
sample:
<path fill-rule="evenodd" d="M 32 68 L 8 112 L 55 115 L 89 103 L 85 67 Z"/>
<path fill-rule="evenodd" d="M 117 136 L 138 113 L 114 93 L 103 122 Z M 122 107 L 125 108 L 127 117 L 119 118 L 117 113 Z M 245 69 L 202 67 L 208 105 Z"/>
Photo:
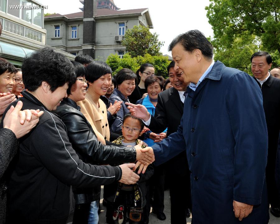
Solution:
<path fill-rule="evenodd" d="M 192 224 L 267 224 L 268 134 L 259 86 L 245 72 L 214 62 L 213 47 L 198 30 L 177 36 L 169 50 L 190 85 L 177 132 L 152 146 L 156 164 L 186 149 Z M 140 105 L 129 108 L 149 119 Z"/>

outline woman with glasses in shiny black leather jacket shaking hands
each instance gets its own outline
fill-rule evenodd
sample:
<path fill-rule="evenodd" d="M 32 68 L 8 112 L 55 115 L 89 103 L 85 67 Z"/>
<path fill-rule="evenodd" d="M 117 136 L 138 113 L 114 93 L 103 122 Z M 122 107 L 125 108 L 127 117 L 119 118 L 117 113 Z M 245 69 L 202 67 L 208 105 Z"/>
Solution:
<path fill-rule="evenodd" d="M 69 141 L 79 158 L 83 162 L 91 164 L 97 164 L 98 162 L 103 164 L 134 162 L 135 160 L 144 163 L 145 160 L 149 162 L 140 151 L 141 145 L 136 146 L 136 150 L 134 150 L 131 147 L 113 145 L 108 141 L 106 141 L 108 145 L 103 145 L 97 140 L 91 125 L 80 112 L 80 107 L 77 106 L 77 102 L 83 100 L 86 95 L 86 70 L 82 64 L 78 62 L 72 63 L 76 69 L 77 80 L 73 85 L 69 85 L 67 90 L 68 98 L 63 99 L 54 112 L 66 125 Z M 73 188 L 73 194 L 75 199 L 73 223 L 87 223 L 91 202 L 100 198 L 100 187 Z"/>

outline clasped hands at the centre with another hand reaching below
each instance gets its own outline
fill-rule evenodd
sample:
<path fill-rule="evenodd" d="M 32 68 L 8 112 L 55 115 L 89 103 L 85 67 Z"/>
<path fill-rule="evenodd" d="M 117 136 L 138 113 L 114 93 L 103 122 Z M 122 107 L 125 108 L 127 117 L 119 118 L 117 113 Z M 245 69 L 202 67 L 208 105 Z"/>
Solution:
<path fill-rule="evenodd" d="M 138 174 L 145 173 L 148 165 L 155 161 L 155 155 L 151 147 L 142 148 L 143 142 L 136 145 L 136 160 L 137 163 L 124 163 L 119 167 L 122 170 L 122 178 L 119 182 L 124 184 L 135 184 L 139 180 L 139 176 L 133 172 L 139 167 Z"/>

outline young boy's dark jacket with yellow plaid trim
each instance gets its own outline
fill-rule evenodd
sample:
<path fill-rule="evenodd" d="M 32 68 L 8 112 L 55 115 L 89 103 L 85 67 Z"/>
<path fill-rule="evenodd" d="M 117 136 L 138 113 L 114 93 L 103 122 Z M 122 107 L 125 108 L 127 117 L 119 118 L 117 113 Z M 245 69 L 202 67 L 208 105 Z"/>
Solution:
<path fill-rule="evenodd" d="M 119 138 L 114 140 L 113 143 L 122 144 L 122 139 L 124 139 L 124 137 L 120 136 Z M 136 139 L 136 144 L 138 144 L 139 142 L 140 142 L 140 140 Z M 145 147 L 146 147 L 145 145 L 142 145 L 142 148 L 145 148 Z M 110 164 L 110 165 L 118 166 L 120 164 Z M 140 176 L 140 179 L 137 181 L 136 185 L 138 186 L 138 189 L 139 189 L 140 200 L 142 201 L 142 208 L 144 208 L 144 206 L 146 205 L 145 195 L 147 193 L 147 189 L 146 189 L 145 181 L 149 180 L 153 174 L 154 174 L 154 165 L 153 164 L 150 164 L 147 167 L 146 172 L 144 174 L 142 174 L 142 173 L 138 174 Z M 106 187 L 107 187 L 106 188 L 107 200 L 109 202 L 114 202 L 117 191 L 119 190 L 119 182 L 114 181 L 114 183 L 107 185 Z M 138 201 L 138 200 L 139 199 L 136 199 L 136 201 Z"/>

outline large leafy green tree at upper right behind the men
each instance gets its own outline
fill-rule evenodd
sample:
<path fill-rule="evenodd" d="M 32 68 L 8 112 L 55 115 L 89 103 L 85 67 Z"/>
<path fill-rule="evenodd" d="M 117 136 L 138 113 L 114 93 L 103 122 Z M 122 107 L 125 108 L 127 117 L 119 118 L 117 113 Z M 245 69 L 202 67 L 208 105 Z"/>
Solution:
<path fill-rule="evenodd" d="M 250 56 L 259 50 L 280 53 L 279 0 L 211 0 L 205 7 L 214 37 L 215 60 L 250 72 Z"/>

